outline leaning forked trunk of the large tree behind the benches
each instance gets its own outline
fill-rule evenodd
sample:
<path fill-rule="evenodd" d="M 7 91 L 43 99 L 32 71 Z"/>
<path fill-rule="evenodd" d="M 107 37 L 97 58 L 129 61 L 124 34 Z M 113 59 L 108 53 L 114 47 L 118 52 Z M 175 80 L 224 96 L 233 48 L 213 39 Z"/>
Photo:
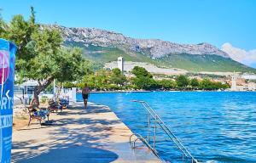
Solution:
<path fill-rule="evenodd" d="M 38 86 L 36 86 L 35 89 L 34 89 L 34 97 L 33 97 L 33 100 L 32 100 L 32 104 L 36 104 L 37 106 L 40 104 L 38 95 L 42 91 L 44 91 L 44 89 L 46 87 L 48 87 L 50 85 L 50 83 L 53 82 L 53 81 L 54 81 L 53 76 L 48 77 L 43 83 L 38 81 Z"/>

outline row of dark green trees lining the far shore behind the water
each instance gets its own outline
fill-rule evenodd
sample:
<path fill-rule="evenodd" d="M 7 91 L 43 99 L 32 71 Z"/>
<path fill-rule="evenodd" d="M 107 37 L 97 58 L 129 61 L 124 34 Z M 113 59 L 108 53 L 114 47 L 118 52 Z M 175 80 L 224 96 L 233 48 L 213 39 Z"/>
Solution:
<path fill-rule="evenodd" d="M 229 87 L 228 84 L 222 84 L 221 82 L 211 82 L 208 79 L 204 79 L 199 82 L 197 79 L 189 81 L 187 76 L 178 76 L 177 81 L 172 79 L 162 79 L 155 81 L 153 76 L 144 68 L 137 67 L 134 72 L 135 77 L 126 78 L 122 75 L 119 69 L 113 70 L 97 70 L 94 73 L 87 74 L 83 80 L 76 84 L 77 87 L 84 87 L 86 82 L 89 87 L 97 90 L 119 90 L 119 89 L 143 89 L 143 90 L 172 90 L 184 88 L 189 89 L 205 89 L 205 90 L 216 90 L 226 89 Z M 177 82 L 183 83 L 177 86 Z M 66 86 L 68 87 L 68 86 Z M 73 87 L 73 85 L 72 85 Z"/>

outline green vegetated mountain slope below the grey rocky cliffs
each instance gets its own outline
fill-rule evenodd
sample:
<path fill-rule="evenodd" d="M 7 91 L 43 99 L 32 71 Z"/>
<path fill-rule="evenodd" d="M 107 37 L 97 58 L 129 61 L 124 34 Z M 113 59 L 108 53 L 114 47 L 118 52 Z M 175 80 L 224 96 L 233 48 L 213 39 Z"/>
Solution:
<path fill-rule="evenodd" d="M 85 59 L 96 61 L 98 63 L 107 63 L 115 61 L 119 56 L 124 57 L 126 61 L 147 62 L 159 67 L 177 68 L 190 71 L 219 71 L 219 72 L 251 72 L 256 70 L 242 65 L 233 59 L 224 58 L 218 55 L 196 55 L 196 54 L 169 54 L 159 59 L 151 59 L 148 54 L 140 52 L 125 51 L 120 48 L 84 46 L 79 42 L 66 42 L 66 45 L 76 46 L 83 49 Z"/>

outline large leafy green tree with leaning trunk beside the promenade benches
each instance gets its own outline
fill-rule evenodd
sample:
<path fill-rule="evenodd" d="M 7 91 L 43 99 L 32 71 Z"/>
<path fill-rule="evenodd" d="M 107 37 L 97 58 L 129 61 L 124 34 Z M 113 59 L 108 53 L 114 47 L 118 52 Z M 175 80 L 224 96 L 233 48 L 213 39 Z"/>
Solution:
<path fill-rule="evenodd" d="M 33 8 L 29 20 L 15 15 L 4 32 L 3 36 L 18 47 L 16 72 L 20 82 L 26 79 L 38 81 L 34 89 L 36 104 L 39 104 L 39 93 L 54 79 L 71 82 L 84 73 L 81 50 L 62 48 L 61 32 L 36 24 Z"/>

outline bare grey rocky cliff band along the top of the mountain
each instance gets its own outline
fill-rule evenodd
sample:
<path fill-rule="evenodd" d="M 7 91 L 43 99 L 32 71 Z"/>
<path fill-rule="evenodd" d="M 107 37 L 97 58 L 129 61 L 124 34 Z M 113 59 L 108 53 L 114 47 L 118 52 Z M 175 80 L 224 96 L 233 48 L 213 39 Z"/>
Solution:
<path fill-rule="evenodd" d="M 95 45 L 101 47 L 114 47 L 131 52 L 148 54 L 151 58 L 162 58 L 169 54 L 215 54 L 229 59 L 228 53 L 217 47 L 203 42 L 199 44 L 178 44 L 160 39 L 136 39 L 125 37 L 121 33 L 105 31 L 95 28 L 72 28 L 60 25 L 47 25 L 49 28 L 58 28 L 65 42 L 79 42 L 84 46 Z"/>

